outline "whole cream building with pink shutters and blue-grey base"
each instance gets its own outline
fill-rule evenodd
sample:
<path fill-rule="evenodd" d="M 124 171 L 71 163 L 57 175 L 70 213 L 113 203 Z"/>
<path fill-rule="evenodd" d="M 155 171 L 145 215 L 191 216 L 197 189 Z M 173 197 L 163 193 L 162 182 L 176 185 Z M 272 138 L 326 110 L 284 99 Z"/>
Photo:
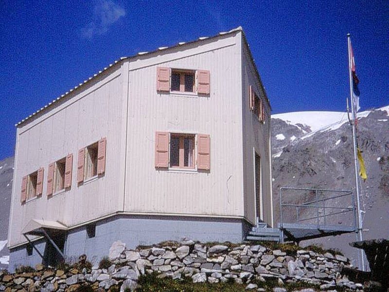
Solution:
<path fill-rule="evenodd" d="M 10 270 L 272 226 L 270 110 L 241 28 L 111 64 L 17 124 Z"/>

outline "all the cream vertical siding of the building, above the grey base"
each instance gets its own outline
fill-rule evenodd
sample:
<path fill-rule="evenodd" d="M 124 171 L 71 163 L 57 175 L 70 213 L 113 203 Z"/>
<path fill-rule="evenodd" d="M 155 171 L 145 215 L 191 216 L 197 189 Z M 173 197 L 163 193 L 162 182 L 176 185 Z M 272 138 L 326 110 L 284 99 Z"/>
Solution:
<path fill-rule="evenodd" d="M 237 32 L 185 50 L 178 47 L 124 61 L 20 126 L 14 173 L 14 182 L 19 183 L 13 187 L 9 245 L 24 242 L 20 230 L 36 218 L 71 227 L 125 211 L 245 217 L 255 223 L 253 148 L 265 169 L 264 218 L 270 218 L 270 111 L 267 105 L 265 125 L 252 119 L 247 90 L 259 81 L 245 50 L 242 33 Z M 157 67 L 209 72 L 210 80 L 202 82 L 210 92 L 157 91 Z M 209 135 L 210 170 L 156 168 L 157 132 Z M 102 153 L 99 157 L 105 160 L 100 171 L 104 174 L 78 184 L 78 151 L 102 138 L 106 151 L 104 158 Z M 47 182 L 53 182 L 49 164 L 70 153 L 71 187 L 47 196 L 52 192 Z M 41 166 L 48 169 L 43 196 L 21 204 L 22 178 Z"/>

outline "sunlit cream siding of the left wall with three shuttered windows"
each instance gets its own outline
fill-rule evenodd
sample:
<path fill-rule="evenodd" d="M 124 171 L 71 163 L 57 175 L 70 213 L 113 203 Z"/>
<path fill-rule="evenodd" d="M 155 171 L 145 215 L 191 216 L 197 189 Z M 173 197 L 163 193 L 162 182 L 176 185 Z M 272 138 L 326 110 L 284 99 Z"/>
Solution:
<path fill-rule="evenodd" d="M 24 175 L 40 166 L 45 171 L 43 196 L 35 200 L 20 204 L 18 183 L 18 196 L 14 194 L 11 202 L 10 245 L 25 241 L 20 231 L 31 219 L 58 220 L 74 226 L 123 209 L 124 184 L 117 178 L 124 172 L 124 161 L 120 156 L 124 157 L 125 117 L 122 109 L 127 96 L 123 92 L 127 76 L 127 70 L 122 74 L 121 66 L 117 66 L 116 70 L 102 75 L 82 91 L 74 91 L 70 99 L 18 128 L 16 182 L 21 183 Z M 78 185 L 77 176 L 71 176 L 71 173 L 77 173 L 77 163 L 72 163 L 71 172 L 67 169 L 65 174 L 71 179 L 71 187 L 48 197 L 47 194 L 53 192 L 53 188 L 47 186 L 48 179 L 53 183 L 52 163 L 69 153 L 77 159 L 80 148 L 104 137 L 107 141 L 105 174 Z M 69 161 L 70 158 L 67 164 Z"/>

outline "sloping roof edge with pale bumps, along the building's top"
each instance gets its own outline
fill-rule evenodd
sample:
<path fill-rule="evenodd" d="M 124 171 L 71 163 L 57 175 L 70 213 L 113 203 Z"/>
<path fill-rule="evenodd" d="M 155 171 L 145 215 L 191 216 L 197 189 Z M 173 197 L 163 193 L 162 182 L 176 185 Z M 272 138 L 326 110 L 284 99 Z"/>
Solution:
<path fill-rule="evenodd" d="M 82 82 L 79 85 L 75 86 L 71 90 L 65 92 L 64 94 L 62 94 L 61 96 L 57 97 L 56 99 L 53 99 L 52 102 L 49 102 L 44 107 L 40 108 L 39 110 L 36 110 L 35 112 L 33 112 L 28 117 L 25 117 L 23 120 L 21 120 L 17 124 L 15 124 L 15 127 L 19 127 L 19 126 L 23 125 L 26 121 L 28 121 L 29 119 L 34 117 L 36 114 L 39 114 L 42 111 L 45 111 L 46 109 L 53 107 L 53 105 L 55 105 L 57 103 L 57 101 L 65 98 L 65 97 L 68 97 L 71 93 L 73 93 L 73 91 L 79 90 L 79 88 L 84 87 L 85 84 L 88 84 L 90 80 L 94 80 L 97 76 L 99 76 L 102 73 L 106 72 L 106 70 L 108 70 L 109 68 L 111 68 L 113 66 L 116 66 L 118 63 L 123 62 L 124 60 L 129 60 L 129 59 L 133 59 L 133 58 L 137 58 L 137 57 L 139 58 L 140 56 L 143 57 L 145 55 L 151 55 L 151 54 L 156 53 L 156 52 L 160 52 L 160 51 L 176 48 L 176 47 L 179 47 L 179 46 L 189 45 L 189 44 L 193 44 L 193 43 L 196 43 L 196 42 L 207 41 L 207 40 L 210 40 L 210 39 L 213 39 L 213 38 L 217 38 L 217 37 L 220 37 L 220 36 L 225 36 L 225 35 L 233 34 L 235 32 L 242 32 L 242 34 L 244 36 L 243 29 L 242 29 L 241 26 L 239 26 L 239 27 L 234 28 L 234 29 L 232 29 L 232 30 L 230 30 L 228 32 L 220 32 L 218 35 L 213 36 L 213 37 L 199 37 L 198 39 L 190 41 L 190 42 L 178 42 L 177 45 L 174 45 L 174 46 L 171 46 L 171 47 L 159 47 L 157 50 L 154 50 L 154 51 L 151 51 L 151 52 L 139 52 L 136 55 L 132 55 L 132 56 L 129 56 L 129 57 L 121 57 L 119 60 L 115 60 L 113 63 L 109 64 L 108 67 L 104 68 L 103 70 L 99 71 L 98 73 L 95 73 L 93 76 L 89 77 L 88 79 L 84 80 L 84 82 Z"/>

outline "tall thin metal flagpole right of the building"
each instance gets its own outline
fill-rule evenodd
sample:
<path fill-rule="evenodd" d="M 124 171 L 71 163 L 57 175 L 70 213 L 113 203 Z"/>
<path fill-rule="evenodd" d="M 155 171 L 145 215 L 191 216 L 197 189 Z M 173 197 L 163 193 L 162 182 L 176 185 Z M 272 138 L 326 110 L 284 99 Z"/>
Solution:
<path fill-rule="evenodd" d="M 359 239 L 359 241 L 362 241 L 362 217 L 361 217 L 361 208 L 360 208 L 360 202 L 359 202 L 359 187 L 358 187 L 358 168 L 357 168 L 357 144 L 356 144 L 356 130 L 355 130 L 355 119 L 356 114 L 354 109 L 354 93 L 353 93 L 353 73 L 352 73 L 352 66 L 353 66 L 353 60 L 352 60 L 352 54 L 351 54 L 351 38 L 350 34 L 347 34 L 347 44 L 348 44 L 348 54 L 349 54 L 349 81 L 350 81 L 350 100 L 351 100 L 351 113 L 352 113 L 352 126 L 353 126 L 353 145 L 354 145 L 354 173 L 355 173 L 355 192 L 356 192 L 356 206 L 357 206 L 357 212 L 358 212 L 358 234 L 356 235 L 356 238 Z M 359 236 L 359 238 L 358 238 Z M 360 254 L 358 256 L 358 264 L 359 268 L 362 269 L 362 271 L 365 271 L 365 260 L 363 256 L 363 250 L 360 250 Z"/>

